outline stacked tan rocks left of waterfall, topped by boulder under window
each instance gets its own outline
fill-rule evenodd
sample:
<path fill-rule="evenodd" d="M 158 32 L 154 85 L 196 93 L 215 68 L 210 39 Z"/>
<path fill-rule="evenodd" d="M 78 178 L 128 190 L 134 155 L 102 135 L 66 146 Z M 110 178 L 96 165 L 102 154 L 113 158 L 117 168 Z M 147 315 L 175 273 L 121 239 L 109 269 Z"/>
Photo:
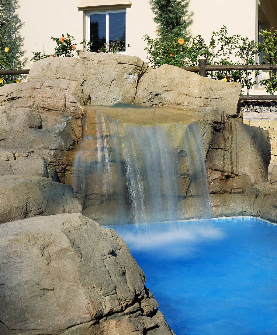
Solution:
<path fill-rule="evenodd" d="M 137 57 L 98 53 L 36 62 L 28 82 L 0 88 L 0 149 L 42 156 L 66 182 L 82 137 L 83 105 L 133 103 L 147 67 Z"/>

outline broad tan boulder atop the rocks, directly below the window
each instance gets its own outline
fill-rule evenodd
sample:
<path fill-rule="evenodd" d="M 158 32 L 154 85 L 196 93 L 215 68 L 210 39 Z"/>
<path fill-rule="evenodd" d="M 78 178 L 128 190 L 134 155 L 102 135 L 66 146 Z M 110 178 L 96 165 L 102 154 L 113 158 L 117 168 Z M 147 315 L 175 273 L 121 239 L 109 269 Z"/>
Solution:
<path fill-rule="evenodd" d="M 91 105 L 112 106 L 133 103 L 137 83 L 147 68 L 147 63 L 138 57 L 81 52 L 80 59 L 50 57 L 36 62 L 28 80 L 74 80 L 89 95 Z"/>

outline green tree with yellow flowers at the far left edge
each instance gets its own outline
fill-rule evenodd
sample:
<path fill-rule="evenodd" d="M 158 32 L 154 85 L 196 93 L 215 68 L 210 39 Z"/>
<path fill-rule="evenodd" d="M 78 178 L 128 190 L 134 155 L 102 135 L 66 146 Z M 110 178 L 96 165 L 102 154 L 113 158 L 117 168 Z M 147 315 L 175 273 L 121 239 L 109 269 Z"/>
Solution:
<path fill-rule="evenodd" d="M 17 15 L 17 0 L 0 0 L 0 69 L 20 69 L 25 60 L 22 51 L 23 38 L 20 29 L 23 26 Z M 0 86 L 15 82 L 20 76 L 0 76 Z"/>

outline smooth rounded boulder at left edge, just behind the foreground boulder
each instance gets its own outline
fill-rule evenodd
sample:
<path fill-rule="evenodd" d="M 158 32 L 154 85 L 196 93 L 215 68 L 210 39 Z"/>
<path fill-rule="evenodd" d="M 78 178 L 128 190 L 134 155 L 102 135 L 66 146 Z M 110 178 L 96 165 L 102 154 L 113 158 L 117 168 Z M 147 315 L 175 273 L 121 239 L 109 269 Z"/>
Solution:
<path fill-rule="evenodd" d="M 82 211 L 70 185 L 35 175 L 0 176 L 0 198 L 0 223 Z"/>

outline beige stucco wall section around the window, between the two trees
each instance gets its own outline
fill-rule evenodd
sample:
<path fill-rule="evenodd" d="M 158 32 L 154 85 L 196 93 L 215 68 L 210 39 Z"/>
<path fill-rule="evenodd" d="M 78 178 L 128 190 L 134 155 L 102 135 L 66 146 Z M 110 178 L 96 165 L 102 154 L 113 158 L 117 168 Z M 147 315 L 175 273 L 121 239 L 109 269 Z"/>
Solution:
<path fill-rule="evenodd" d="M 75 37 L 79 45 L 86 38 L 86 9 L 78 9 L 80 0 L 19 0 L 19 17 L 24 26 L 21 35 L 25 38 L 25 56 L 29 59 L 32 52 L 54 52 L 56 43 L 51 37 L 66 34 Z M 132 0 L 131 6 L 126 8 L 126 44 L 130 44 L 127 54 L 138 56 L 146 60 L 143 49 L 146 43 L 143 35 L 155 37 L 156 24 L 152 20 L 149 0 Z M 93 1 L 91 1 L 93 3 Z M 98 1 L 99 3 L 99 1 Z M 91 10 L 116 9 L 115 7 L 91 7 Z M 77 45 L 77 46 L 78 46 Z"/>

